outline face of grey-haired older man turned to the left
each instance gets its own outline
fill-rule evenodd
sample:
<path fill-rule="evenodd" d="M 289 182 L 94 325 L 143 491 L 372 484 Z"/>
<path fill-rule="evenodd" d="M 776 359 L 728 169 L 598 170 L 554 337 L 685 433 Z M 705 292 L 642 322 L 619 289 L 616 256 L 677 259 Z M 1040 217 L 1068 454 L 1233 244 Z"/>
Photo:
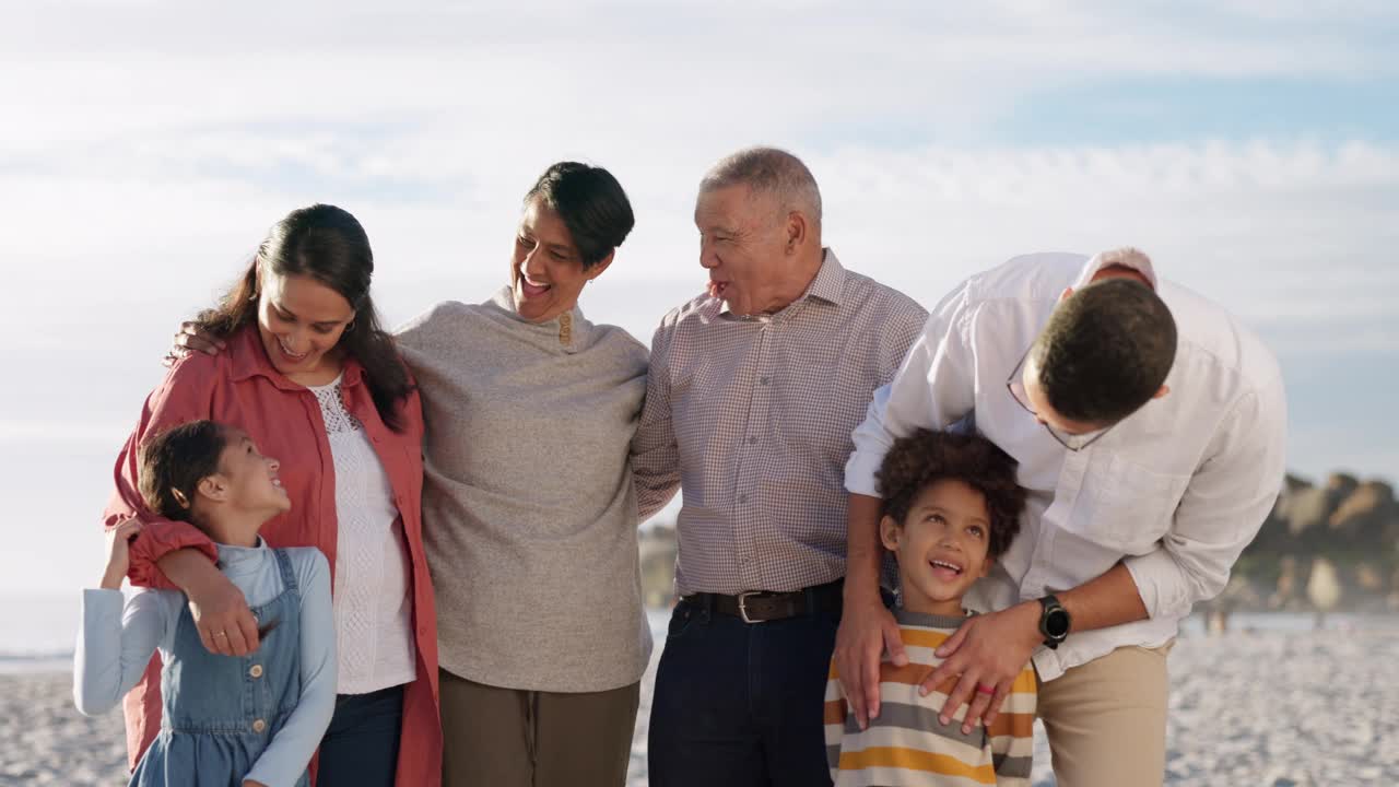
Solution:
<path fill-rule="evenodd" d="M 709 272 L 709 295 L 733 314 L 771 314 L 810 283 L 813 272 L 790 259 L 789 227 L 778 213 L 774 197 L 753 195 L 743 183 L 700 193 L 700 265 Z"/>

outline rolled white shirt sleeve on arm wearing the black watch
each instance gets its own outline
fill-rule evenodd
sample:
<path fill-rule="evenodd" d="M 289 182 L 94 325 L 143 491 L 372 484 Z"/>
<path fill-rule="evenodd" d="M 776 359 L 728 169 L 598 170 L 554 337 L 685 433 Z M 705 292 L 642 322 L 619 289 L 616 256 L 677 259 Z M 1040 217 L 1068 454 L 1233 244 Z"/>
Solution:
<path fill-rule="evenodd" d="M 1216 430 L 1170 531 L 1123 563 L 1151 618 L 1185 616 L 1228 584 L 1240 553 L 1263 525 L 1286 472 L 1287 405 L 1281 379 L 1242 396 Z"/>

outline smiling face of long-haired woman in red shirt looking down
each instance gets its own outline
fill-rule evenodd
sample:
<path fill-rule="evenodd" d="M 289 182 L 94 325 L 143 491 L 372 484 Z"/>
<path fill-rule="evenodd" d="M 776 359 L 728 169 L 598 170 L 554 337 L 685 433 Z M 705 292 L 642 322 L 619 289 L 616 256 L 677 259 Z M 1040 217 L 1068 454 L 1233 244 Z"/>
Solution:
<path fill-rule="evenodd" d="M 334 353 L 354 321 L 354 307 L 311 276 L 280 276 L 262 269 L 257 333 L 273 367 L 291 379 L 340 371 Z"/>

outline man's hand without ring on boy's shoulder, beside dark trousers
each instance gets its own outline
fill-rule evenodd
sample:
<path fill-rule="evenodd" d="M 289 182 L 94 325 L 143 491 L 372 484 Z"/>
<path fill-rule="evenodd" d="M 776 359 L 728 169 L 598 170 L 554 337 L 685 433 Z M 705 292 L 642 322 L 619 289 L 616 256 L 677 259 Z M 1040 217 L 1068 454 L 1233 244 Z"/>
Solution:
<path fill-rule="evenodd" d="M 855 604 L 846 599 L 835 633 L 835 669 L 860 730 L 879 716 L 879 664 L 886 648 L 895 665 L 908 664 L 898 623 L 879 595 Z"/>

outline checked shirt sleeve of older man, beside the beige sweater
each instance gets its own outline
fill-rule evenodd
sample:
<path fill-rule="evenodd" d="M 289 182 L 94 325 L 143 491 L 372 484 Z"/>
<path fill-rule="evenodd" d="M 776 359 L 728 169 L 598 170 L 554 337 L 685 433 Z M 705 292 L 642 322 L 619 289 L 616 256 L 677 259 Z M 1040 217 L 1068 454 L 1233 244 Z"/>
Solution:
<path fill-rule="evenodd" d="M 669 322 L 669 318 L 667 321 Z M 662 322 L 651 340 L 651 370 L 641 424 L 631 441 L 631 473 L 637 485 L 639 520 L 665 508 L 680 489 L 680 448 L 670 417 L 669 339 L 672 328 Z"/>

